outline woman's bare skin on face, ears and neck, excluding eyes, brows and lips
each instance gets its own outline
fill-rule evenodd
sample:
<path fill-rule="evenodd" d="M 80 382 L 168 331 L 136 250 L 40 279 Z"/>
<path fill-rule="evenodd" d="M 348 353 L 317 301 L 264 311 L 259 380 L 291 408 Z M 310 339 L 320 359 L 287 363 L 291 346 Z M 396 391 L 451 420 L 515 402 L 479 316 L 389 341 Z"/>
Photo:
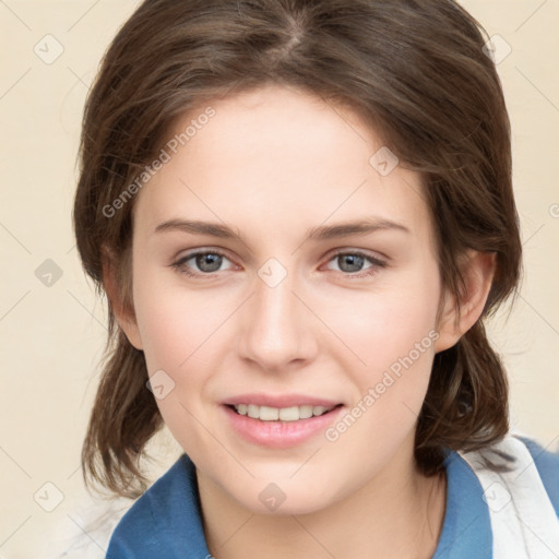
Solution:
<path fill-rule="evenodd" d="M 456 317 L 439 277 L 421 177 L 403 165 L 382 177 L 369 164 L 382 146 L 374 130 L 286 87 L 211 105 L 215 117 L 134 200 L 135 317 L 122 310 L 110 264 L 105 273 L 119 324 L 144 352 L 150 374 L 163 369 L 175 382 L 157 405 L 197 465 L 209 548 L 219 559 L 431 557 L 445 479 L 415 465 L 417 416 L 435 354 L 481 313 L 493 260 L 468 252 Z M 227 224 L 245 242 L 155 231 L 169 219 Z M 407 231 L 305 241 L 311 227 L 358 219 Z M 204 276 L 197 259 L 185 260 L 199 248 L 226 253 L 216 272 Z M 385 265 L 364 260 L 353 271 L 335 249 Z M 275 287 L 258 273 L 270 258 L 287 271 Z M 321 432 L 269 449 L 225 420 L 221 402 L 249 392 L 326 397 L 349 411 L 430 332 L 438 340 L 334 442 Z M 286 496 L 275 511 L 259 499 L 271 483 Z"/>

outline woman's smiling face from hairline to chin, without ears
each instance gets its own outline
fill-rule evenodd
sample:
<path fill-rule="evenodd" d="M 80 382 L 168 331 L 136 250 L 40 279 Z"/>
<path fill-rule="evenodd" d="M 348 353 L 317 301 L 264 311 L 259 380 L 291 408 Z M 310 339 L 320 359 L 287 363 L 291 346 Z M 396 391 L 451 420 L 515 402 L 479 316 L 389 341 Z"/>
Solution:
<path fill-rule="evenodd" d="M 211 106 L 138 194 L 126 330 L 199 475 L 312 512 L 412 462 L 442 348 L 432 224 L 355 115 L 283 87 Z"/>

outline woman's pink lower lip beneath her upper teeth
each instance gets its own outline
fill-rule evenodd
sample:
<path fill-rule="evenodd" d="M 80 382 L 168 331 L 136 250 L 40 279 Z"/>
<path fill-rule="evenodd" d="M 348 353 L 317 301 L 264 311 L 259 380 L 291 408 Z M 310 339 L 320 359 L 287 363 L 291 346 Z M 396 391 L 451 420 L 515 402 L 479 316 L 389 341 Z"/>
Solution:
<path fill-rule="evenodd" d="M 288 449 L 301 444 L 332 425 L 344 406 L 338 406 L 320 416 L 297 421 L 261 421 L 240 415 L 229 406 L 222 406 L 233 428 L 245 440 L 271 449 Z"/>

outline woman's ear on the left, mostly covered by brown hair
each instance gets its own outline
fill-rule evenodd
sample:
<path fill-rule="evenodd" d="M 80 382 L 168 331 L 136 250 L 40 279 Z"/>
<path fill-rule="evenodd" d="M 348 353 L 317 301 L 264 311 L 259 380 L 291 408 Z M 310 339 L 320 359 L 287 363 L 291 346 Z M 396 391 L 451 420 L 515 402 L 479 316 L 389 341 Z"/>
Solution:
<path fill-rule="evenodd" d="M 116 263 L 117 259 L 114 254 L 104 249 L 103 253 L 103 285 L 105 287 L 105 292 L 107 293 L 107 297 L 109 299 L 109 305 L 117 319 L 118 325 L 124 332 L 128 341 L 136 348 L 143 349 L 142 338 L 140 337 L 140 330 L 138 328 L 134 309 L 132 307 L 131 294 L 130 294 L 130 302 L 128 302 L 124 295 L 124 289 L 121 286 L 121 282 L 119 281 L 119 270 Z M 129 262 L 129 272 L 132 273 L 132 262 Z M 128 304 L 127 304 L 128 302 Z"/>

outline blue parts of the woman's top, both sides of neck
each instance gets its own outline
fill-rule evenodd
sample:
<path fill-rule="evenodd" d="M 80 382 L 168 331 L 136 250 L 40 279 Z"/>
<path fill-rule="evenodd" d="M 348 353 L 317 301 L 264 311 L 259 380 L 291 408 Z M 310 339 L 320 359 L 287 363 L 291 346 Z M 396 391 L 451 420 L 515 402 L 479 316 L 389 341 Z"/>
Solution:
<path fill-rule="evenodd" d="M 522 438 L 559 516 L 559 454 Z M 447 510 L 433 559 L 491 559 L 489 509 L 476 474 L 456 452 L 444 460 Z M 122 516 L 106 559 L 211 559 L 195 467 L 182 454 Z"/>

